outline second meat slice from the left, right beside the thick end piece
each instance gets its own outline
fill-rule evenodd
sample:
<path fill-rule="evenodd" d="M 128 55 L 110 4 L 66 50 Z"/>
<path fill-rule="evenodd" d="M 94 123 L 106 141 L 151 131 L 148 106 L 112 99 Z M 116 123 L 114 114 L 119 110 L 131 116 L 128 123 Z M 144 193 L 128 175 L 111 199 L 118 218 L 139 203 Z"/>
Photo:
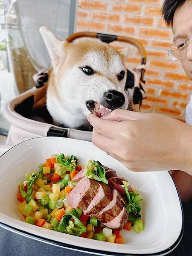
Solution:
<path fill-rule="evenodd" d="M 99 183 L 99 190 L 87 210 L 84 211 L 84 214 L 90 215 L 90 217 L 97 217 L 102 209 L 110 204 L 111 200 L 110 187 L 102 182 Z"/>

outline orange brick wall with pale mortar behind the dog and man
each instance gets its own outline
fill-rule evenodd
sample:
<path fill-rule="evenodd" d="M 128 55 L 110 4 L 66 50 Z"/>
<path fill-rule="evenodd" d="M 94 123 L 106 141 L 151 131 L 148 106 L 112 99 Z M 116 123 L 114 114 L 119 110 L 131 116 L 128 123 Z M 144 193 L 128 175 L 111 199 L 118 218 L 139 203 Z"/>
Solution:
<path fill-rule="evenodd" d="M 148 98 L 143 112 L 164 113 L 183 120 L 192 83 L 184 74 L 180 61 L 167 56 L 172 31 L 160 14 L 163 0 L 79 0 L 76 31 L 104 32 L 139 39 L 148 57 L 145 90 Z M 114 47 L 125 47 L 113 42 Z M 130 49 L 127 67 L 140 64 L 140 55 Z"/>

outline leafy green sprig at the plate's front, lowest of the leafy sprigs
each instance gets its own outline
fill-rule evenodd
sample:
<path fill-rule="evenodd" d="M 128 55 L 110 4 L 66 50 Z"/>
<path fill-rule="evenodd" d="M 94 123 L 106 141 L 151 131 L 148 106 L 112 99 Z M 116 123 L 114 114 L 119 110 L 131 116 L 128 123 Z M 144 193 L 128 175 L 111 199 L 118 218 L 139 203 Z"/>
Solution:
<path fill-rule="evenodd" d="M 71 218 L 73 218 L 74 222 L 71 221 Z M 75 215 L 69 212 L 63 215 L 58 227 L 55 227 L 53 230 L 73 236 L 81 236 L 81 234 L 86 232 L 86 227 Z"/>

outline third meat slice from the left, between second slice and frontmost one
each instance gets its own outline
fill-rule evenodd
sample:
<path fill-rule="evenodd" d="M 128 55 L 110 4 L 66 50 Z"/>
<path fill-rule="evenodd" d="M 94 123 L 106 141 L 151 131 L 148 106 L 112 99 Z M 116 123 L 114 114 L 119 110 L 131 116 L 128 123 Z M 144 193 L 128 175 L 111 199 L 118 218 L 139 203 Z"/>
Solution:
<path fill-rule="evenodd" d="M 112 201 L 97 215 L 97 219 L 101 222 L 107 223 L 115 218 L 122 211 L 123 204 L 121 196 L 116 189 L 113 189 Z"/>

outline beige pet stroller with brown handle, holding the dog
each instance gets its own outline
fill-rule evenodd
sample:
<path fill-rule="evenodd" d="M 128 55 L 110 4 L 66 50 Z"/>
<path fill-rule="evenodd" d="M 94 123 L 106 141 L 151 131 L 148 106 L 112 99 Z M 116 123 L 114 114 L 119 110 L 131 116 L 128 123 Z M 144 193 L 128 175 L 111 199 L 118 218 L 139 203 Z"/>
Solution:
<path fill-rule="evenodd" d="M 143 84 L 145 83 L 146 52 L 143 45 L 133 38 L 95 32 L 78 32 L 72 34 L 67 38 L 67 42 L 72 42 L 82 37 L 99 38 L 105 43 L 121 41 L 137 47 L 141 55 L 141 64 L 134 70 L 127 70 L 125 91 L 128 98 L 132 99 L 134 108 L 139 110 L 142 100 L 145 98 Z M 38 73 L 38 77 L 36 78 L 37 84 L 24 93 L 21 93 L 6 105 L 4 115 L 12 125 L 4 150 L 33 137 L 57 136 L 87 141 L 91 140 L 90 131 L 62 128 L 52 124 L 52 118 L 46 108 L 47 77 L 46 72 Z"/>

